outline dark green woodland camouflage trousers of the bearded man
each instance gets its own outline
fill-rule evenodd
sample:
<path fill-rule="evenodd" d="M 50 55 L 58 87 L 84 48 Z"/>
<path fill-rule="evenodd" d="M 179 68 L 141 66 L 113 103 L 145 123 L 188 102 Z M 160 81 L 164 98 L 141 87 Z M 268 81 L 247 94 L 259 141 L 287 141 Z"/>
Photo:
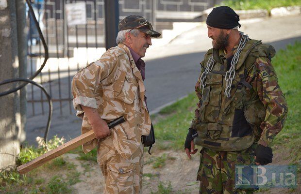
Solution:
<path fill-rule="evenodd" d="M 254 190 L 235 188 L 235 164 L 255 164 L 257 144 L 240 151 L 214 151 L 202 148 L 197 180 L 200 194 L 252 194 Z"/>

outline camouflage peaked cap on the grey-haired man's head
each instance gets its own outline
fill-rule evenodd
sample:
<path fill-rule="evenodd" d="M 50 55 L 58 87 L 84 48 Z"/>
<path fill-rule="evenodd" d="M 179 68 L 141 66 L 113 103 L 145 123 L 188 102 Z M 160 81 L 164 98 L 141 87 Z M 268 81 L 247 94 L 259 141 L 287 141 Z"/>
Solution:
<path fill-rule="evenodd" d="M 161 36 L 159 32 L 152 30 L 151 23 L 140 15 L 129 15 L 119 22 L 118 31 L 129 29 L 140 30 L 154 38 Z"/>

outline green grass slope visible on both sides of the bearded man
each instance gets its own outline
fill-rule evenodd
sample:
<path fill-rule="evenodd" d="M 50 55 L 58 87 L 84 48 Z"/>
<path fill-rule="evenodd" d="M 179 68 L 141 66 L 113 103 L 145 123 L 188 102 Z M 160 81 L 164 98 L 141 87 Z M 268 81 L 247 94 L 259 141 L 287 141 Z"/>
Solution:
<path fill-rule="evenodd" d="M 291 161 L 298 162 L 301 160 L 301 42 L 288 45 L 287 49 L 277 52 L 272 63 L 289 107 L 284 129 L 276 136 L 274 143 L 287 148 Z M 159 149 L 184 149 L 187 129 L 194 117 L 196 104 L 197 97 L 192 93 L 155 116 L 156 119 L 159 118 L 154 125 L 156 146 Z"/>

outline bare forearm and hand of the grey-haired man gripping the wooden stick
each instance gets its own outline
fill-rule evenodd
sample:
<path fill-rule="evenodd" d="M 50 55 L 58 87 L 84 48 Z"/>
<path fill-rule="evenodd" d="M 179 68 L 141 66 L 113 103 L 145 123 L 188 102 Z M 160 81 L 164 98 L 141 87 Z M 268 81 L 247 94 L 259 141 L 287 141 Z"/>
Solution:
<path fill-rule="evenodd" d="M 87 106 L 82 106 L 82 108 L 84 110 L 84 114 L 89 119 L 89 122 L 97 139 L 102 139 L 108 135 L 111 135 L 111 130 L 109 129 L 108 124 L 100 118 L 97 109 Z"/>

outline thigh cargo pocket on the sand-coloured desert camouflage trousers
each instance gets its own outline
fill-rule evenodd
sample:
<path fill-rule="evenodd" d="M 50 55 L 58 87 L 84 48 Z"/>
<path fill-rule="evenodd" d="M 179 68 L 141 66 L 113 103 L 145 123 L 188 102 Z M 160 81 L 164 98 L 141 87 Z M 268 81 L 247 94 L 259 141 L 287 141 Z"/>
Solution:
<path fill-rule="evenodd" d="M 113 163 L 107 164 L 108 177 L 106 185 L 114 188 L 116 193 L 132 193 L 134 189 L 134 164 L 132 163 Z"/>

